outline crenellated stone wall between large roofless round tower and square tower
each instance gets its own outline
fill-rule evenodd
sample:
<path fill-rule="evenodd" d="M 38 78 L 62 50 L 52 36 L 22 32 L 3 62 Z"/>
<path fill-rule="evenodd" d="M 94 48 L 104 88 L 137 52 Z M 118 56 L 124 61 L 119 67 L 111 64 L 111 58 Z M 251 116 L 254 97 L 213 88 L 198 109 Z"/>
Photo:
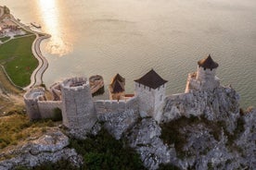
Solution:
<path fill-rule="evenodd" d="M 128 100 L 97 100 L 94 102 L 97 115 L 106 113 L 118 113 L 128 109 L 138 111 L 138 103 L 135 97 Z"/>

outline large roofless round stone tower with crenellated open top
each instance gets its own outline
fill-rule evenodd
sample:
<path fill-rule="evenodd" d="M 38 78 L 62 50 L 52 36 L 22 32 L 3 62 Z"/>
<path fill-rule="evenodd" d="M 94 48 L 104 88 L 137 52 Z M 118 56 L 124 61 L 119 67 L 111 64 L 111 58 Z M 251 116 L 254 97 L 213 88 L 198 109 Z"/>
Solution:
<path fill-rule="evenodd" d="M 86 78 L 66 79 L 61 84 L 63 125 L 88 131 L 96 123 L 96 110 L 89 81 Z"/>

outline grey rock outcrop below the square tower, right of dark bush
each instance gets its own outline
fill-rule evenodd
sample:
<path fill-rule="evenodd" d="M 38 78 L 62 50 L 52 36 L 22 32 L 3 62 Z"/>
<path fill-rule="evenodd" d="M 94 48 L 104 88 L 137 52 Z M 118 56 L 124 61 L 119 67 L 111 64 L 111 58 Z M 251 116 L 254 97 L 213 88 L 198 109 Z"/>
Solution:
<path fill-rule="evenodd" d="M 160 140 L 160 132 L 153 118 L 144 118 L 126 136 L 148 169 L 158 169 L 159 164 L 168 164 L 175 157 L 174 149 Z"/>

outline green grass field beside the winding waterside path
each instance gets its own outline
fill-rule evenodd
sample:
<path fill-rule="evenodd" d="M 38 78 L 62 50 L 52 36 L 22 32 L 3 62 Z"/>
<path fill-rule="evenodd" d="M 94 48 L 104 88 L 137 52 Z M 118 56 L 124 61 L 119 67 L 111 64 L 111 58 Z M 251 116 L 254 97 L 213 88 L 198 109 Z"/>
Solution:
<path fill-rule="evenodd" d="M 0 64 L 12 81 L 25 87 L 31 82 L 32 71 L 38 66 L 32 55 L 32 42 L 35 35 L 20 37 L 0 45 Z"/>

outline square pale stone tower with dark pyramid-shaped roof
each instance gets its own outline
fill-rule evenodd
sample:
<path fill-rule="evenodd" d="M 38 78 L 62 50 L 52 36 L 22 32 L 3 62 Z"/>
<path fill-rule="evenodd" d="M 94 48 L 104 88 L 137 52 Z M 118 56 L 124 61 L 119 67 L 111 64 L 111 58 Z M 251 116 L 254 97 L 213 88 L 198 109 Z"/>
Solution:
<path fill-rule="evenodd" d="M 151 69 L 145 76 L 135 79 L 135 96 L 140 115 L 150 115 L 160 122 L 167 80 Z"/>

